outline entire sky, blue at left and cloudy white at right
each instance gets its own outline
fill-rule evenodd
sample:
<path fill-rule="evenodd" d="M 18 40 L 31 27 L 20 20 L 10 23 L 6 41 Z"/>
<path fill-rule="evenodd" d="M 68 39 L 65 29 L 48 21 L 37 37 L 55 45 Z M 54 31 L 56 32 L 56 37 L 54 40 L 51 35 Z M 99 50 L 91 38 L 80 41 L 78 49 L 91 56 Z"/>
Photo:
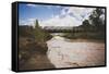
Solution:
<path fill-rule="evenodd" d="M 19 24 L 34 26 L 37 18 L 40 26 L 78 26 L 94 9 L 20 3 Z"/>

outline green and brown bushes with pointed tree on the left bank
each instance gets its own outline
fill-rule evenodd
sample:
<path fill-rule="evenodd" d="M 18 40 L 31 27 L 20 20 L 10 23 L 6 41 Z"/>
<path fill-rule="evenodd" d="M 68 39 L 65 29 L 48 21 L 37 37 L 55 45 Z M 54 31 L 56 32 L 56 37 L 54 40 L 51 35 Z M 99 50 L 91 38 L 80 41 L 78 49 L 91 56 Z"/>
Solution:
<path fill-rule="evenodd" d="M 49 33 L 44 32 L 38 21 L 35 22 L 35 27 L 33 26 L 19 26 L 19 62 L 22 69 L 24 64 L 33 58 L 35 54 L 46 57 L 47 44 L 52 36 Z M 47 57 L 46 57 L 47 58 Z M 41 61 L 40 59 L 35 59 Z M 46 59 L 47 60 L 47 59 Z M 37 61 L 37 62 L 38 62 Z M 50 62 L 48 65 L 50 65 Z M 40 64 L 41 65 L 41 64 Z M 32 65 L 31 65 L 32 66 Z"/>

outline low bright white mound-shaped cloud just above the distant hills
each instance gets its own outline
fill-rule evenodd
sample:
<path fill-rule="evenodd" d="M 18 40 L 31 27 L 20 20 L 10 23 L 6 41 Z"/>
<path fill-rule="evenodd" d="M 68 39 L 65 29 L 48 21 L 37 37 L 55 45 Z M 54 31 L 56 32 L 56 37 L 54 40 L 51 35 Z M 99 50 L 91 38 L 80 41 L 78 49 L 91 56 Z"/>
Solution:
<path fill-rule="evenodd" d="M 70 15 L 65 15 L 64 17 L 60 17 L 57 15 L 50 20 L 40 22 L 41 26 L 78 26 L 80 24 L 80 21 L 76 21 Z"/>

